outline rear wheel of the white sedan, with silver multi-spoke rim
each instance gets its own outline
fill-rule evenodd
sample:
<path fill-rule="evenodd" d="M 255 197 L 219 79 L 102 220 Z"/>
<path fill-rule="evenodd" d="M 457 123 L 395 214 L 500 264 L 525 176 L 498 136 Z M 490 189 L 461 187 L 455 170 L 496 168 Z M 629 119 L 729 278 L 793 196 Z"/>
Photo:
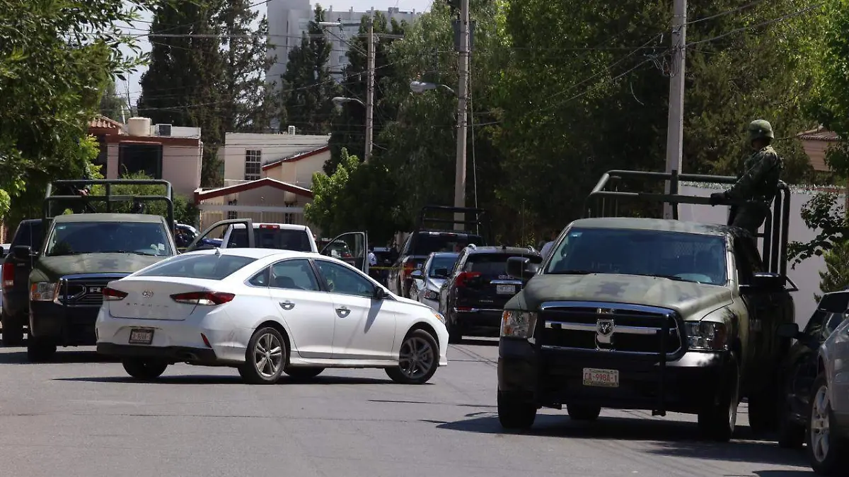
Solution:
<path fill-rule="evenodd" d="M 239 374 L 247 384 L 274 384 L 280 379 L 286 364 L 286 342 L 274 328 L 256 330 L 245 351 L 245 363 Z"/>

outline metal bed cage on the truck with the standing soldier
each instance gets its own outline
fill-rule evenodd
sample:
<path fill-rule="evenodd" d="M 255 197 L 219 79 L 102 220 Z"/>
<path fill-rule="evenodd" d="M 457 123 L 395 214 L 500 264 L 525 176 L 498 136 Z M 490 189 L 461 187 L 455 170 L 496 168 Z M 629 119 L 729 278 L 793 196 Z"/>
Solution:
<path fill-rule="evenodd" d="M 619 190 L 605 190 L 608 182 L 616 182 L 622 179 L 655 179 L 658 181 L 669 181 L 669 194 L 657 194 L 649 192 L 620 192 Z M 678 204 L 710 205 L 710 199 L 694 195 L 678 194 L 679 182 L 702 182 L 734 184 L 737 177 L 711 176 L 706 174 L 679 174 L 678 171 L 652 172 L 652 171 L 607 171 L 596 183 L 593 191 L 584 202 L 585 217 L 617 216 L 619 199 L 637 199 L 655 203 L 666 203 L 672 205 L 672 218 L 678 220 Z M 607 199 L 611 199 L 607 201 Z M 744 205 L 746 201 L 728 200 L 722 205 Z M 763 233 L 757 233 L 756 237 L 763 239 L 762 257 L 764 264 L 770 272 L 787 274 L 787 241 L 790 231 L 790 188 L 784 181 L 779 181 L 776 188 L 775 199 L 773 199 L 772 215 L 767 214 L 763 224 Z M 612 214 L 607 212 L 612 208 Z"/>

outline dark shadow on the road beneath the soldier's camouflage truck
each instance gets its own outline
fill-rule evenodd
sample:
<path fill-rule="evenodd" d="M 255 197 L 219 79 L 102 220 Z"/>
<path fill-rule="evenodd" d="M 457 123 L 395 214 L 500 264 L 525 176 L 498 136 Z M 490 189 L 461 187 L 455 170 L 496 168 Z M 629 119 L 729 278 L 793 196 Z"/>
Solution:
<path fill-rule="evenodd" d="M 663 419 L 601 417 L 591 423 L 572 421 L 568 416 L 539 415 L 533 428 L 526 432 L 510 433 L 498 424 L 492 412 L 467 414 L 468 419 L 437 425 L 438 429 L 452 429 L 481 434 L 521 434 L 569 439 L 616 439 L 624 441 L 652 441 L 653 448 L 644 452 L 659 456 L 689 457 L 729 462 L 769 463 L 807 467 L 802 452 L 787 451 L 770 441 L 755 439 L 751 429 L 738 426 L 737 441 L 720 443 L 705 441 L 693 423 Z M 742 440 L 742 441 L 741 441 Z M 801 474 L 779 474 L 761 471 L 762 477 L 796 477 Z"/>

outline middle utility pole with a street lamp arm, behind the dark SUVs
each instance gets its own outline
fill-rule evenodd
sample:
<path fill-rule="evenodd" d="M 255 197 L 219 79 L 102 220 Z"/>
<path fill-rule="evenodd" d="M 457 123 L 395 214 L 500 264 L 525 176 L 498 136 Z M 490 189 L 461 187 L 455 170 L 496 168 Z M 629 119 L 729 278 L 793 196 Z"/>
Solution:
<path fill-rule="evenodd" d="M 458 71 L 460 85 L 457 89 L 457 171 L 454 177 L 454 206 L 466 206 L 466 100 L 469 97 L 469 0 L 460 0 L 460 51 Z M 462 222 L 465 214 L 454 214 Z M 464 223 L 455 223 L 455 230 L 464 230 Z"/>

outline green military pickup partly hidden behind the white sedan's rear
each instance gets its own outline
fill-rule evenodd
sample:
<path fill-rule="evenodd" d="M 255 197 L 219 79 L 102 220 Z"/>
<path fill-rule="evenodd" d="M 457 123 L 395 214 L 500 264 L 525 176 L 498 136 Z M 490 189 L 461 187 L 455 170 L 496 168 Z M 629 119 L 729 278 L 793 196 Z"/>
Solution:
<path fill-rule="evenodd" d="M 98 185 L 105 194 L 52 194 Z M 121 185 L 160 185 L 166 192 L 160 196 L 112 194 Z M 155 201 L 166 204 L 166 216 L 124 211 L 140 211 Z M 133 204 L 132 209 L 127 203 Z M 82 213 L 53 216 L 53 211 L 65 209 Z M 166 181 L 57 181 L 48 187 L 43 210 L 41 248 L 12 250 L 32 263 L 26 345 L 32 362 L 48 360 L 57 346 L 94 345 L 94 322 L 106 283 L 177 254 L 171 183 Z"/>

